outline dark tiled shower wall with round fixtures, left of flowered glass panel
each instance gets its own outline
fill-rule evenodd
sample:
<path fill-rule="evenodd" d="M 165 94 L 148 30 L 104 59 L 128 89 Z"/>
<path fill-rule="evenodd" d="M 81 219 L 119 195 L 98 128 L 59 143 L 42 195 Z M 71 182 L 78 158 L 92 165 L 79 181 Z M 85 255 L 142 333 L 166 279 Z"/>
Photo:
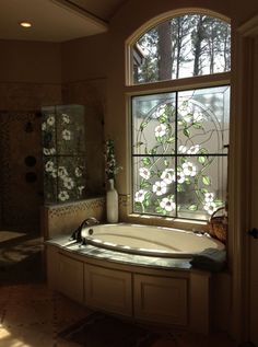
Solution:
<path fill-rule="evenodd" d="M 61 103 L 60 84 L 0 83 L 1 228 L 23 232 L 39 228 L 43 175 L 38 111 L 43 104 L 56 103 Z M 28 155 L 36 159 L 35 165 L 25 164 Z M 30 176 L 35 181 L 28 182 Z"/>

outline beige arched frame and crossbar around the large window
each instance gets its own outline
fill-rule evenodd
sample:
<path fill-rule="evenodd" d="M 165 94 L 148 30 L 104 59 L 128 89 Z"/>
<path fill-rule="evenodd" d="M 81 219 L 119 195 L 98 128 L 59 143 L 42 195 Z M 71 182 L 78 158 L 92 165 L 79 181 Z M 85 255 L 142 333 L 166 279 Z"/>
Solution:
<path fill-rule="evenodd" d="M 213 74 L 203 74 L 203 76 L 197 76 L 197 77 L 187 77 L 181 78 L 177 80 L 166 80 L 166 81 L 156 81 L 156 82 L 148 82 L 148 83 L 133 83 L 133 65 L 132 65 L 132 45 L 139 39 L 141 35 L 150 31 L 152 27 L 159 25 L 160 23 L 172 19 L 174 16 L 178 15 L 186 15 L 186 14 L 204 14 L 209 16 L 214 16 L 216 19 L 223 20 L 226 23 L 231 24 L 231 21 L 228 18 L 223 16 L 216 12 L 207 11 L 203 9 L 189 9 L 189 10 L 178 10 L 178 11 L 172 11 L 166 14 L 159 15 L 144 25 L 142 25 L 138 31 L 126 42 L 126 85 L 125 85 L 125 95 L 126 95 L 126 104 L 127 104 L 127 119 L 128 122 L 128 139 L 129 139 L 129 162 L 128 162 L 128 173 L 129 173 L 129 180 L 128 180 L 128 192 L 131 196 L 131 204 L 128 207 L 128 217 L 134 218 L 148 218 L 149 220 L 152 220 L 152 222 L 155 222 L 159 220 L 163 221 L 173 221 L 175 227 L 183 227 L 187 229 L 206 229 L 206 225 L 208 224 L 204 220 L 195 220 L 195 219 L 185 219 L 180 217 L 168 217 L 168 216 L 159 216 L 159 215 L 144 215 L 144 213 L 138 213 L 133 212 L 133 194 L 132 194 L 132 183 L 133 183 L 133 171 L 132 171 L 132 109 L 131 109 L 131 99 L 132 96 L 139 96 L 139 95 L 151 95 L 151 94 L 159 94 L 159 93 L 173 93 L 173 92 L 179 92 L 179 91 L 187 91 L 191 89 L 204 89 L 204 88 L 212 88 L 212 86 L 221 86 L 221 85 L 230 85 L 231 86 L 231 76 L 232 71 L 226 72 L 219 72 Z M 232 88 L 231 88 L 231 100 L 232 100 Z M 231 103 L 231 102 L 230 102 Z M 231 113 L 231 109 L 230 109 Z M 230 117 L 230 124 L 231 124 Z M 231 128 L 231 126 L 230 126 Z M 230 137 L 231 141 L 231 137 Z M 227 159 L 228 159 L 227 153 Z M 228 176 L 228 175 L 227 175 Z M 165 222 L 166 223 L 166 222 Z"/>

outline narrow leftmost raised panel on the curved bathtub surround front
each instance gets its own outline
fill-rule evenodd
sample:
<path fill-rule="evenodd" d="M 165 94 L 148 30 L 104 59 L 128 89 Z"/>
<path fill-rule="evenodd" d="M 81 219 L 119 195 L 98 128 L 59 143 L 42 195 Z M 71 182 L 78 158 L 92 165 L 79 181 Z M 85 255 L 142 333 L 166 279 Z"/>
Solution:
<path fill-rule="evenodd" d="M 83 263 L 60 254 L 58 290 L 64 296 L 83 302 Z"/>

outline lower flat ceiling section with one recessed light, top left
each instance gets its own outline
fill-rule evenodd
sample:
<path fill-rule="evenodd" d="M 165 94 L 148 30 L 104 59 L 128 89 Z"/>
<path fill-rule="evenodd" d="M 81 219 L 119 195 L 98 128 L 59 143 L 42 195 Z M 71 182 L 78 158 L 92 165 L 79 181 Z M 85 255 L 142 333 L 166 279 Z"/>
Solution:
<path fill-rule="evenodd" d="M 0 39 L 59 43 L 101 34 L 126 1 L 0 0 Z M 32 27 L 21 27 L 23 21 Z"/>

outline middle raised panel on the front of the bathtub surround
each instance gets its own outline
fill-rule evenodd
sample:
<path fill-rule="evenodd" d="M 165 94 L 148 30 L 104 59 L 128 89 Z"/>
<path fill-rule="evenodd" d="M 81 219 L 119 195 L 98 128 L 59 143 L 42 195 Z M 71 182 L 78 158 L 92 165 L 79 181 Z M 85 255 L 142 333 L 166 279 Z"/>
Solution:
<path fill-rule="evenodd" d="M 132 313 L 131 274 L 85 265 L 85 304 L 122 315 Z"/>

